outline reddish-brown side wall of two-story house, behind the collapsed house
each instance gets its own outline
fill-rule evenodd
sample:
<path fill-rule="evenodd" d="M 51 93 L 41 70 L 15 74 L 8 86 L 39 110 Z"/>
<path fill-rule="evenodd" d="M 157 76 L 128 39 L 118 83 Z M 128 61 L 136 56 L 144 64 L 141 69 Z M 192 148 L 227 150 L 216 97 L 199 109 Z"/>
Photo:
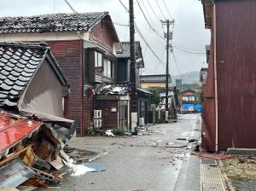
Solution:
<path fill-rule="evenodd" d="M 77 135 L 80 136 L 82 113 L 82 51 L 83 41 L 48 41 L 47 42 L 62 72 L 70 84 L 71 94 L 66 101 L 66 118 L 78 123 Z"/>

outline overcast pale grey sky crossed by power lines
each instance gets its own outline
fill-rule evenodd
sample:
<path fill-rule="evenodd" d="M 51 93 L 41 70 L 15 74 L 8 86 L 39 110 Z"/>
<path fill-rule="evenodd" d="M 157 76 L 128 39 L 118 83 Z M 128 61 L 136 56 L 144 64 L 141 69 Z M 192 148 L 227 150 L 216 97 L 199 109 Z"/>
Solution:
<path fill-rule="evenodd" d="M 73 8 L 78 12 L 108 11 L 113 22 L 128 24 L 129 14 L 125 12 L 119 0 L 68 0 Z M 128 0 L 122 0 L 128 8 Z M 165 3 L 166 7 L 165 7 Z M 158 7 L 158 4 L 160 9 Z M 165 42 L 153 32 L 143 17 L 135 3 L 135 21 L 143 33 L 150 47 L 154 49 L 156 55 L 166 62 Z M 165 27 L 162 27 L 160 20 L 170 19 L 166 10 L 175 20 L 173 28 L 173 40 L 178 47 L 190 52 L 205 53 L 205 45 L 210 42 L 210 32 L 204 27 L 204 17 L 201 2 L 198 0 L 138 0 L 148 21 L 163 35 Z M 150 9 L 150 6 L 154 9 Z M 25 16 L 35 14 L 71 13 L 64 0 L 8 0 L 0 3 L 0 16 Z M 155 14 L 157 15 L 155 15 Z M 164 15 L 163 15 L 164 14 Z M 159 17 L 159 18 L 157 18 Z M 126 26 L 116 26 L 116 30 L 121 41 L 129 41 L 129 28 Z M 165 68 L 150 52 L 147 45 L 136 34 L 136 40 L 141 41 L 143 47 L 143 57 L 145 62 L 145 74 L 165 73 Z M 183 72 L 199 71 L 201 67 L 207 67 L 205 54 L 189 54 L 178 49 L 173 49 L 176 61 L 170 57 L 170 73 L 178 75 Z"/>

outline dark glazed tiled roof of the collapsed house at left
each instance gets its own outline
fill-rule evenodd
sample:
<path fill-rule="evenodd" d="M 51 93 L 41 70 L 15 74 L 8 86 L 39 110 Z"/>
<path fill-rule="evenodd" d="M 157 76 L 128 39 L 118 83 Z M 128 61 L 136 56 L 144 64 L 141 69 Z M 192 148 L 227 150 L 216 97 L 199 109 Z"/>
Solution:
<path fill-rule="evenodd" d="M 1 43 L 0 42 L 0 105 L 15 107 L 23 90 L 31 81 L 34 73 L 48 56 L 49 48 L 45 43 Z M 52 56 L 49 53 L 50 56 Z M 67 84 L 54 58 L 55 72 L 61 82 Z M 62 83 L 63 84 L 63 83 Z"/>

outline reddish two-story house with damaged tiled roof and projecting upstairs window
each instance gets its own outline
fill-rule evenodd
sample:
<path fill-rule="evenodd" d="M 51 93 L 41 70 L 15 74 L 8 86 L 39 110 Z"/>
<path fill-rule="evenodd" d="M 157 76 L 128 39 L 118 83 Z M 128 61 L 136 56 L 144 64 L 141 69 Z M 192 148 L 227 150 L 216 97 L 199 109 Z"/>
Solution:
<path fill-rule="evenodd" d="M 108 12 L 0 18 L 0 40 L 49 44 L 71 87 L 65 115 L 83 136 L 92 122 L 95 84 L 116 78 L 121 46 Z"/>

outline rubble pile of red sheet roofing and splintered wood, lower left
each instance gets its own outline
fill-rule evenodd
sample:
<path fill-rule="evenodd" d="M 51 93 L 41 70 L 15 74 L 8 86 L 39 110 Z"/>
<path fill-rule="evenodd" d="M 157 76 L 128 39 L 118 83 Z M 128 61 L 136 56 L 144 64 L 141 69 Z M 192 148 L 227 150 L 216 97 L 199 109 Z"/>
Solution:
<path fill-rule="evenodd" d="M 0 188 L 60 186 L 62 177 L 56 171 L 70 160 L 48 125 L 1 111 Z"/>

